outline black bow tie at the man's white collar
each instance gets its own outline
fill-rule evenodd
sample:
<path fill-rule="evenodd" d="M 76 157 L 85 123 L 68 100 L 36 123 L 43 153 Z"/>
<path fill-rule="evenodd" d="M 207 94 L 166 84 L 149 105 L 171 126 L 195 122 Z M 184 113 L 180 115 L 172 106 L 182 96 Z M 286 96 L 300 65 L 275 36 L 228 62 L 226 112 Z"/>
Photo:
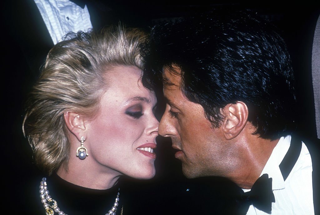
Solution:
<path fill-rule="evenodd" d="M 242 194 L 242 199 L 247 205 L 247 210 L 253 204 L 260 211 L 271 214 L 271 203 L 276 202 L 272 192 L 272 178 L 269 178 L 268 174 L 261 175 L 251 190 Z"/>

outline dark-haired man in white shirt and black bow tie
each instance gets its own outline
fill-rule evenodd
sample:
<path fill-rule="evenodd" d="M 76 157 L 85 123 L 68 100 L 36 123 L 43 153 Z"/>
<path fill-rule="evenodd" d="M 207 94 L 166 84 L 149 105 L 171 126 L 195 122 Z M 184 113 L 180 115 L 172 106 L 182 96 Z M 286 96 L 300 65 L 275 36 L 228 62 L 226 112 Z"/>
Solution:
<path fill-rule="evenodd" d="M 293 71 L 271 24 L 234 11 L 179 19 L 153 27 L 143 54 L 145 86 L 163 85 L 159 134 L 186 177 L 232 180 L 247 214 L 315 213 L 318 158 L 293 135 Z"/>

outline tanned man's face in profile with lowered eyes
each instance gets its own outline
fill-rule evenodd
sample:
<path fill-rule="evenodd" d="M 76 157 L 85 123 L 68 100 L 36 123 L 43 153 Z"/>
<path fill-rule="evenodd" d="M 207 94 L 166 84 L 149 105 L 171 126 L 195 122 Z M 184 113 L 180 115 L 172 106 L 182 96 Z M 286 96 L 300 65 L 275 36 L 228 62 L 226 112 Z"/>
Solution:
<path fill-rule="evenodd" d="M 175 157 L 182 162 L 183 174 L 188 178 L 223 176 L 228 166 L 228 146 L 222 142 L 220 129 L 212 127 L 200 104 L 183 95 L 179 74 L 165 69 L 163 77 L 172 85 L 165 85 L 163 89 L 167 104 L 159 134 L 171 137 L 172 147 L 178 150 Z"/>

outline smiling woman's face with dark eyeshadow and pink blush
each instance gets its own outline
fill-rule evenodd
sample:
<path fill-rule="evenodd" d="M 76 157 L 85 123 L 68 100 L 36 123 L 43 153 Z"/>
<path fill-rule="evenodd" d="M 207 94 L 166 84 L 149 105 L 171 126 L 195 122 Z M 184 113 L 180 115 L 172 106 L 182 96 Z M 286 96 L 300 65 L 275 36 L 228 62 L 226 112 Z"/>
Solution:
<path fill-rule="evenodd" d="M 92 168 L 100 173 L 152 178 L 159 125 L 154 115 L 156 96 L 143 87 L 138 67 L 118 66 L 106 75 L 108 89 L 101 96 L 100 110 L 86 125 L 84 145 Z"/>

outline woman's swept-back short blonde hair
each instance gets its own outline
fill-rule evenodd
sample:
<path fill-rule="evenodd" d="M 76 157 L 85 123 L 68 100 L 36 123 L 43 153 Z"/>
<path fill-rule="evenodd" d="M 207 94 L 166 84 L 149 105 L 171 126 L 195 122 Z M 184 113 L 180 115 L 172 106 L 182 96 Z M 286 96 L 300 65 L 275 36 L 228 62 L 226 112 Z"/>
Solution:
<path fill-rule="evenodd" d="M 48 53 L 26 102 L 23 133 L 40 169 L 51 174 L 68 160 L 64 113 L 94 117 L 114 66 L 142 68 L 139 45 L 144 31 L 121 25 L 95 32 L 69 33 Z"/>

